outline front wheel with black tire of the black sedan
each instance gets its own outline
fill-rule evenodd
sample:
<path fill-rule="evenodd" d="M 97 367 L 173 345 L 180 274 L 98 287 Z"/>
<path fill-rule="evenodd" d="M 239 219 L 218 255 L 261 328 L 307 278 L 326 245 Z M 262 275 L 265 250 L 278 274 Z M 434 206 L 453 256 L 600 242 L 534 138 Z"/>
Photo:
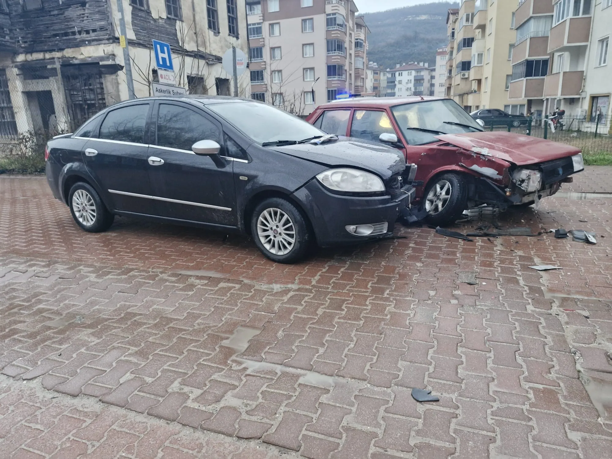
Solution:
<path fill-rule="evenodd" d="M 285 223 L 281 225 L 283 220 Z M 272 228 L 268 230 L 269 234 L 266 234 L 266 228 Z M 276 234 L 271 233 L 274 230 Z M 304 259 L 313 243 L 310 225 L 302 212 L 282 198 L 268 198 L 255 207 L 251 217 L 251 236 L 261 253 L 277 263 L 296 263 Z"/>

